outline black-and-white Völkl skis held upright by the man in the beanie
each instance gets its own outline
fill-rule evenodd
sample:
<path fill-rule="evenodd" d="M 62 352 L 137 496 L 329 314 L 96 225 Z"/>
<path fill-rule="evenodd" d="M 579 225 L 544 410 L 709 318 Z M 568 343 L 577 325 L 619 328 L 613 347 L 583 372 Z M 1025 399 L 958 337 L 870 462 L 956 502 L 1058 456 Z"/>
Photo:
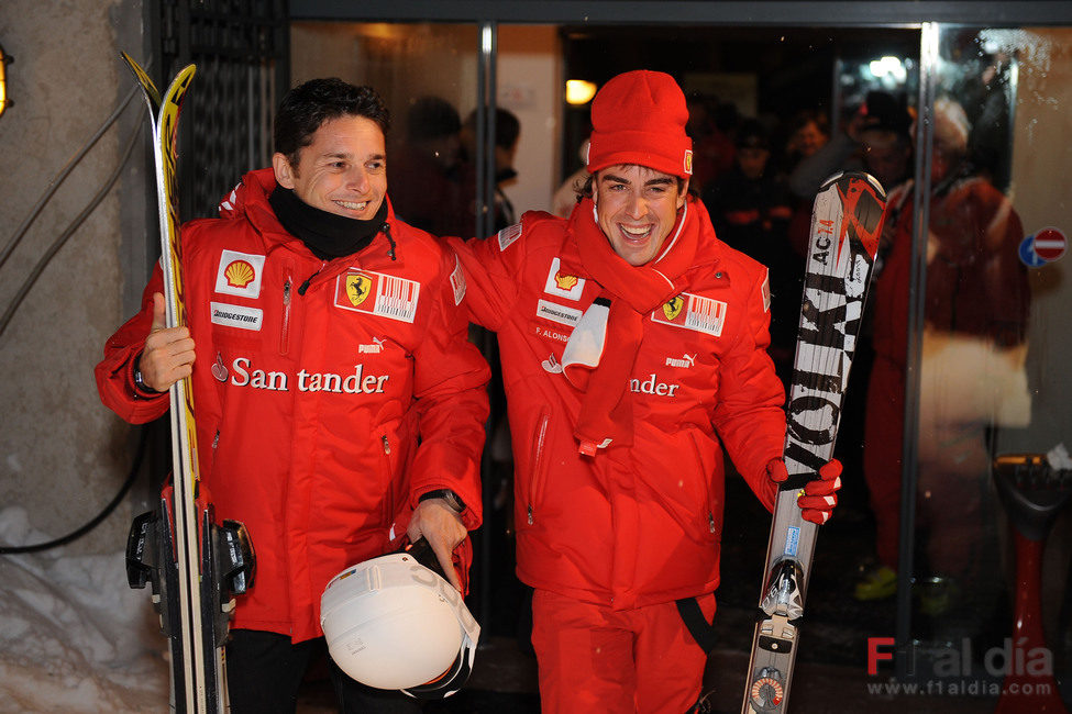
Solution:
<path fill-rule="evenodd" d="M 886 197 L 866 174 L 842 172 L 819 188 L 786 414 L 785 466 L 766 549 L 741 714 L 783 714 L 818 526 L 797 506 L 804 486 L 830 460 L 871 282 Z M 714 712 L 710 672 L 693 709 Z"/>

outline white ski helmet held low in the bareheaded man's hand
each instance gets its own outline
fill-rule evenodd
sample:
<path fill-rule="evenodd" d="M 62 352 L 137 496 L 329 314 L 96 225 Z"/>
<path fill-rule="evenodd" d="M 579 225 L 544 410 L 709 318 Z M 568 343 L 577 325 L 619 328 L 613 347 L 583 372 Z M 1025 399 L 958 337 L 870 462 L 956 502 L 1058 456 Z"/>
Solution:
<path fill-rule="evenodd" d="M 320 626 L 346 674 L 421 699 L 462 688 L 480 636 L 462 593 L 410 553 L 373 558 L 332 578 L 320 599 Z"/>

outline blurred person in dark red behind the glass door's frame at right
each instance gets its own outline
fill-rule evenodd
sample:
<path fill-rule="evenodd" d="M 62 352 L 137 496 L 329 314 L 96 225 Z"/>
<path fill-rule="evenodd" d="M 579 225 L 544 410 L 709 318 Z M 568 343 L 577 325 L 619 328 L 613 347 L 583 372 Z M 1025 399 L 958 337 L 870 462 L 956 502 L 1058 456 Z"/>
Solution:
<path fill-rule="evenodd" d="M 1026 426 L 1030 417 L 1024 372 L 1030 289 L 1027 268 L 1018 259 L 1023 225 L 1008 199 L 968 160 L 970 124 L 963 109 L 940 98 L 933 121 L 919 527 L 930 533 L 926 567 L 949 585 L 977 577 L 984 557 L 980 533 L 990 478 L 987 429 Z M 857 583 L 859 600 L 896 592 L 913 201 L 914 181 L 889 193 L 891 246 L 872 293 L 875 358 L 867 388 L 864 477 L 875 514 L 877 565 Z M 949 588 L 944 590 L 948 598 Z M 941 596 L 930 602 L 932 609 L 942 606 Z"/>

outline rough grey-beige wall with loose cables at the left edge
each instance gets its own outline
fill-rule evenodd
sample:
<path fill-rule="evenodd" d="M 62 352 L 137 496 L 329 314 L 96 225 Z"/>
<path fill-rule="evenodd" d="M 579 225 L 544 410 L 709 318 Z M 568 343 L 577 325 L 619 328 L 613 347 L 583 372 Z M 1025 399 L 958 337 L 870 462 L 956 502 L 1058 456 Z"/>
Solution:
<path fill-rule="evenodd" d="M 0 44 L 14 57 L 8 66 L 14 103 L 0 118 L 0 249 L 133 86 L 119 51 L 144 56 L 142 12 L 141 1 L 129 0 L 0 5 Z M 147 275 L 148 144 L 144 134 L 133 137 L 141 104 L 134 97 L 0 267 L 3 314 L 102 189 L 126 144 L 137 141 L 132 168 L 55 253 L 0 334 L 0 511 L 21 507 L 32 528 L 53 537 L 81 526 L 113 498 L 133 454 L 131 428 L 97 397 L 93 366 Z M 130 504 L 68 551 L 121 551 Z M 0 536 L 0 546 L 18 535 Z"/>

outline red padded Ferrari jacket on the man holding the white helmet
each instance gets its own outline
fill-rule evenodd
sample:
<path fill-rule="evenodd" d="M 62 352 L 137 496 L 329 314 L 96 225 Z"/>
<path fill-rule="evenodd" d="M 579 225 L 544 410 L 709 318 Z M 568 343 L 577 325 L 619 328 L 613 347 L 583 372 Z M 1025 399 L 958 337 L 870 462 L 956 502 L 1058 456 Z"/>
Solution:
<path fill-rule="evenodd" d="M 397 259 L 382 233 L 325 263 L 279 224 L 274 188 L 270 169 L 247 174 L 223 219 L 184 225 L 183 271 L 202 483 L 257 556 L 233 626 L 301 642 L 322 634 L 328 581 L 391 549 L 422 493 L 453 489 L 479 525 L 489 372 L 452 252 L 389 212 Z M 97 366 L 102 401 L 132 423 L 168 408 L 132 381 L 162 285 L 157 266 Z"/>

